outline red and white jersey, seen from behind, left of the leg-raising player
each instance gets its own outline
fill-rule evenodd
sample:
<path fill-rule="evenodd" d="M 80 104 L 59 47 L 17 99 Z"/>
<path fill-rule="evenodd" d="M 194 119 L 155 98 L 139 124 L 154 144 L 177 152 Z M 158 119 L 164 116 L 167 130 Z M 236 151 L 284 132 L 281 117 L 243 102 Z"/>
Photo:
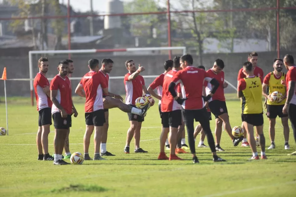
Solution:
<path fill-rule="evenodd" d="M 102 72 L 90 71 L 86 73 L 80 85 L 85 91 L 85 112 L 93 112 L 103 108 L 103 89 L 107 88 L 106 77 Z"/>

